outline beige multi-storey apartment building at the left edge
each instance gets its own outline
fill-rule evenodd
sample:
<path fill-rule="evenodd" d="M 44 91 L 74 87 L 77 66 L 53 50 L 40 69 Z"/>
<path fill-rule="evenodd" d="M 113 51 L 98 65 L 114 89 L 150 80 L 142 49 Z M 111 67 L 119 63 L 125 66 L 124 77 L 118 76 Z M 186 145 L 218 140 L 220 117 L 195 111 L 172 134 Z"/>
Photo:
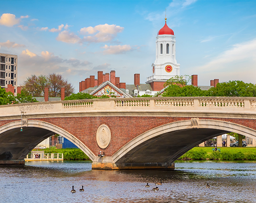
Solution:
<path fill-rule="evenodd" d="M 0 86 L 7 88 L 9 84 L 14 86 L 14 94 L 17 94 L 18 56 L 0 53 Z"/>

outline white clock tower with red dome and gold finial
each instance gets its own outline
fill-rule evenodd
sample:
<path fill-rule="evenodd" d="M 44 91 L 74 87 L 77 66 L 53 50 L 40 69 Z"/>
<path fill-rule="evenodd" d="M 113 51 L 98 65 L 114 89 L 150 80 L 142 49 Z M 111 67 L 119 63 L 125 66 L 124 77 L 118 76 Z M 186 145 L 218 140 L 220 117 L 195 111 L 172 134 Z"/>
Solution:
<path fill-rule="evenodd" d="M 156 59 L 152 63 L 152 76 L 146 78 L 153 91 L 163 89 L 164 83 L 175 75 L 179 75 L 180 64 L 176 61 L 176 40 L 174 31 L 165 25 L 156 37 Z"/>

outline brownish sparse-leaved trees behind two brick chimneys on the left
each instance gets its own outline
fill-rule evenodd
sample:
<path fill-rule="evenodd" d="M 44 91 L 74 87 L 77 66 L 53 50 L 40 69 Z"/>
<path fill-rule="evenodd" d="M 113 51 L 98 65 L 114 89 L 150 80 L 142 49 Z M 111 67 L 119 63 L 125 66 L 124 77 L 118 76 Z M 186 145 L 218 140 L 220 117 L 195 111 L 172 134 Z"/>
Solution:
<path fill-rule="evenodd" d="M 31 75 L 24 81 L 22 90 L 33 97 L 43 97 L 45 87 L 49 88 L 49 97 L 61 97 L 61 87 L 65 88 L 65 96 L 74 93 L 74 88 L 61 74 Z"/>

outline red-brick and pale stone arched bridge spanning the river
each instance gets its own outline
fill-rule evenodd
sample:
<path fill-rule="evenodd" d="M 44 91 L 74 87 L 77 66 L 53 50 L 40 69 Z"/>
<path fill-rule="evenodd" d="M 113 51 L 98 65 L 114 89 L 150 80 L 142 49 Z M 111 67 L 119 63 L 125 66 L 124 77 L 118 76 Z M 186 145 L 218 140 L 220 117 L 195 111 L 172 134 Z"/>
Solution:
<path fill-rule="evenodd" d="M 37 144 L 57 133 L 85 152 L 93 169 L 174 168 L 179 156 L 228 132 L 256 139 L 256 98 L 109 98 L 2 105 L 0 164 L 24 164 Z"/>

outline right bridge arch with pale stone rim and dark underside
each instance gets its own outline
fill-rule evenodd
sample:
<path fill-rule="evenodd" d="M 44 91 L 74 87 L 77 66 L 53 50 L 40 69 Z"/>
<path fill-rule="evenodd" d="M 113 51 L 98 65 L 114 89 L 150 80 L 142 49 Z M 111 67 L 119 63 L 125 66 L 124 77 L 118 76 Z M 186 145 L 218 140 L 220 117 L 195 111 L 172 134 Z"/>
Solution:
<path fill-rule="evenodd" d="M 198 128 L 191 120 L 177 121 L 158 126 L 134 138 L 112 156 L 114 163 L 127 162 L 173 162 L 196 145 L 219 136 L 234 132 L 256 139 L 256 130 L 232 122 L 214 119 L 200 119 Z M 179 144 L 180 139 L 189 139 Z M 191 138 L 189 138 L 191 137 Z M 172 141 L 170 141 L 172 139 Z M 178 143 L 175 143 L 175 140 Z M 171 144 L 173 143 L 173 144 Z M 160 145 L 160 147 L 154 145 Z M 168 145 L 169 144 L 169 145 Z M 155 150 L 155 149 L 157 150 Z M 171 149 L 174 150 L 171 150 Z M 171 150 L 171 152 L 168 152 Z M 160 153 L 158 153 L 160 152 Z M 146 160 L 146 156 L 157 155 L 156 159 Z M 144 156 L 144 157 L 143 157 Z M 144 161 L 142 161 L 144 160 Z"/>

